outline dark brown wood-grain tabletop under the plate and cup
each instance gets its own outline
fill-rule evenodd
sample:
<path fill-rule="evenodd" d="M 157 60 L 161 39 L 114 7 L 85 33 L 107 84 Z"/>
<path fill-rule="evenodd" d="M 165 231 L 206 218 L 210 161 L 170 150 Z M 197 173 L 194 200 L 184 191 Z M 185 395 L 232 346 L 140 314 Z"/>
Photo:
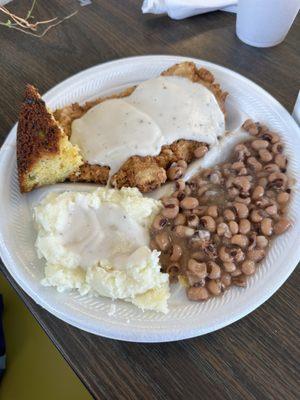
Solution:
<path fill-rule="evenodd" d="M 139 54 L 194 56 L 224 65 L 261 85 L 292 111 L 299 90 L 299 18 L 284 43 L 256 49 L 237 39 L 232 14 L 172 21 L 142 15 L 140 3 L 93 0 L 43 39 L 0 27 L 1 139 L 17 120 L 27 82 L 45 92 L 82 69 Z M 27 5 L 13 2 L 18 11 L 24 7 L 24 14 Z M 66 15 L 76 7 L 75 0 L 40 0 L 35 15 Z M 58 320 L 1 267 L 97 399 L 297 398 L 299 271 L 258 310 L 218 332 L 174 343 L 134 344 L 96 337 Z"/>

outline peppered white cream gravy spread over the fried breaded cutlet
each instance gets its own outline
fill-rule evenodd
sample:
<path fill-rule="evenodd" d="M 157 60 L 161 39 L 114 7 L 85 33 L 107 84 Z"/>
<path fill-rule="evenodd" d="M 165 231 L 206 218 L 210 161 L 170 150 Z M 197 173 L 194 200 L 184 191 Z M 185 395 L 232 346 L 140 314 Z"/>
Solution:
<path fill-rule="evenodd" d="M 187 78 L 161 76 L 74 120 L 71 142 L 87 162 L 108 165 L 114 173 L 133 155 L 157 155 L 178 139 L 215 144 L 224 133 L 224 114 L 209 89 Z"/>

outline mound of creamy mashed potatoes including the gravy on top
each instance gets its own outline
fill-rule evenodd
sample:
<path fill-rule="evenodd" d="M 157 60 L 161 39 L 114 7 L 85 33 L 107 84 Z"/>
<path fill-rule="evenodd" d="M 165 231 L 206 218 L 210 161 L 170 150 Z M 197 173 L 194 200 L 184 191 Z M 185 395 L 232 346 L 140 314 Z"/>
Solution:
<path fill-rule="evenodd" d="M 167 312 L 168 275 L 148 247 L 160 208 L 132 188 L 49 194 L 34 209 L 36 248 L 46 259 L 42 284 Z"/>

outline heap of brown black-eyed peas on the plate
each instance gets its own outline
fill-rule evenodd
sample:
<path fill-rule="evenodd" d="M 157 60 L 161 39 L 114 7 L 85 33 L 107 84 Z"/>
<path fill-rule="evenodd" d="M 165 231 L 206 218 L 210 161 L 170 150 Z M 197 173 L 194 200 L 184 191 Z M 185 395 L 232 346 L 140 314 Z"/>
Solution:
<path fill-rule="evenodd" d="M 179 276 L 187 296 L 205 301 L 230 286 L 245 287 L 267 254 L 274 235 L 290 227 L 287 159 L 280 137 L 248 120 L 252 140 L 235 146 L 229 162 L 200 171 L 185 182 L 186 162 L 168 170 L 176 191 L 162 198 L 150 247 L 160 251 L 162 270 Z M 200 144 L 195 157 L 207 146 Z"/>

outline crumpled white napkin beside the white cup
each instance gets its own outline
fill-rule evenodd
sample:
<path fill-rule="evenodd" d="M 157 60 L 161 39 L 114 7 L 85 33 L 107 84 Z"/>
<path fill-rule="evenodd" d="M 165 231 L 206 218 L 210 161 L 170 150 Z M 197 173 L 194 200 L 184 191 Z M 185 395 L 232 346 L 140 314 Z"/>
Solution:
<path fill-rule="evenodd" d="M 235 6 L 238 0 L 144 0 L 142 11 L 144 14 L 168 14 L 173 19 L 183 19 L 197 14 Z M 224 11 L 233 11 L 229 7 Z"/>

